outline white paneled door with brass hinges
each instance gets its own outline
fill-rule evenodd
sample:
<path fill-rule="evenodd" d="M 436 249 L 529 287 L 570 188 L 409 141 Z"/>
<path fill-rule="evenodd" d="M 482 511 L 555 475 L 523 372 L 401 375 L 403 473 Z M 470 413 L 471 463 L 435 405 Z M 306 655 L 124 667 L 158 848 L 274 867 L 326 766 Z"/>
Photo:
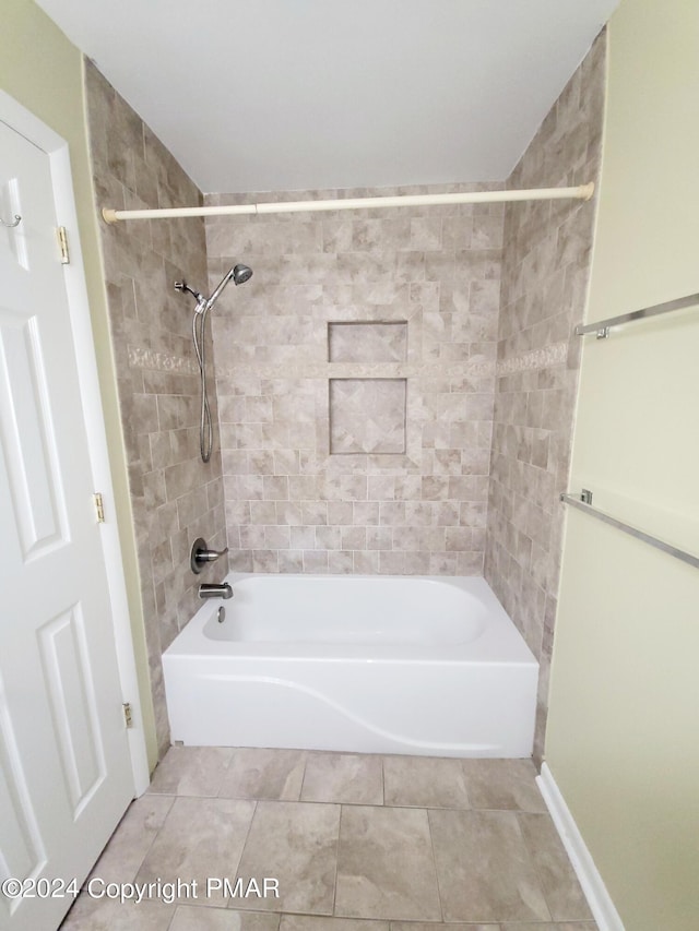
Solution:
<path fill-rule="evenodd" d="M 134 795 L 49 156 L 0 122 L 0 929 L 60 923 Z M 42 882 L 36 882 L 43 878 Z M 1 886 L 0 886 L 1 888 Z M 13 887 L 5 885 L 12 893 Z"/>

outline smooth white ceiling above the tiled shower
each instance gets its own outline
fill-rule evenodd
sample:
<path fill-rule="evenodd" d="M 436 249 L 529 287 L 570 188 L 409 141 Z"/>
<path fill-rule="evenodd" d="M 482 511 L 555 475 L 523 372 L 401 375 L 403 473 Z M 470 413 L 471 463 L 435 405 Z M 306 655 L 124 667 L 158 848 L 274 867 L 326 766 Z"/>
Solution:
<path fill-rule="evenodd" d="M 507 178 L 618 0 L 38 0 L 204 192 Z"/>

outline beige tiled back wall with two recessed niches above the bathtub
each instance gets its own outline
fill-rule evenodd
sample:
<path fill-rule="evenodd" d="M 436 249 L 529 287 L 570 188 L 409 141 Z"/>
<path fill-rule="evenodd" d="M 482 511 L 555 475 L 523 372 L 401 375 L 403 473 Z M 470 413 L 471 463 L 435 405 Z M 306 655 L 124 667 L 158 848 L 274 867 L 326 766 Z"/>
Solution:
<path fill-rule="evenodd" d="M 254 270 L 213 321 L 233 568 L 482 573 L 502 222 L 496 205 L 208 218 L 210 285 Z"/>

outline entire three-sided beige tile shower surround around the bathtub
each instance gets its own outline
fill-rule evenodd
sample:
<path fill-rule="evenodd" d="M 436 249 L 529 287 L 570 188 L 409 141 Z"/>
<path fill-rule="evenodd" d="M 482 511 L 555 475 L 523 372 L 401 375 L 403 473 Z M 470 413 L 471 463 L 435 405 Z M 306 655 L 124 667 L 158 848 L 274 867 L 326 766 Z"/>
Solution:
<path fill-rule="evenodd" d="M 578 184 L 597 177 L 597 38 L 507 184 L 212 194 L 208 204 Z M 98 205 L 201 194 L 87 65 Z M 158 743 L 161 654 L 194 612 L 198 536 L 240 571 L 482 574 L 548 690 L 593 203 L 103 225 Z M 208 256 L 208 259 L 206 259 Z M 217 439 L 199 461 L 186 277 L 212 313 Z M 210 357 L 211 354 L 210 354 Z M 213 385 L 212 385 L 213 387 Z M 217 396 L 217 397 L 216 397 Z M 223 474 L 223 479 L 222 479 Z M 225 517 L 224 517 L 225 500 Z M 206 570 L 204 581 L 221 574 Z"/>

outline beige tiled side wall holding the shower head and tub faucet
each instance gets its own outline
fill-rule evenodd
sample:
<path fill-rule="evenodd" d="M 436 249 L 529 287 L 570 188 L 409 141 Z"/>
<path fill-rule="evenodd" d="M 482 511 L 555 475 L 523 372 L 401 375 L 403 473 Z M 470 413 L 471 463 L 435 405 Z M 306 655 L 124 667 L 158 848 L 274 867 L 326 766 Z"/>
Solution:
<path fill-rule="evenodd" d="M 198 204 L 201 194 L 138 115 L 86 63 L 97 206 Z M 161 655 L 198 608 L 192 541 L 225 545 L 217 447 L 199 458 L 199 378 L 190 339 L 192 300 L 206 288 L 201 219 L 100 223 L 111 336 L 135 525 L 141 595 L 161 752 L 169 744 Z M 212 380 L 213 381 L 213 380 Z M 212 398 L 216 417 L 215 397 Z M 200 576 L 212 581 L 225 568 Z"/>

